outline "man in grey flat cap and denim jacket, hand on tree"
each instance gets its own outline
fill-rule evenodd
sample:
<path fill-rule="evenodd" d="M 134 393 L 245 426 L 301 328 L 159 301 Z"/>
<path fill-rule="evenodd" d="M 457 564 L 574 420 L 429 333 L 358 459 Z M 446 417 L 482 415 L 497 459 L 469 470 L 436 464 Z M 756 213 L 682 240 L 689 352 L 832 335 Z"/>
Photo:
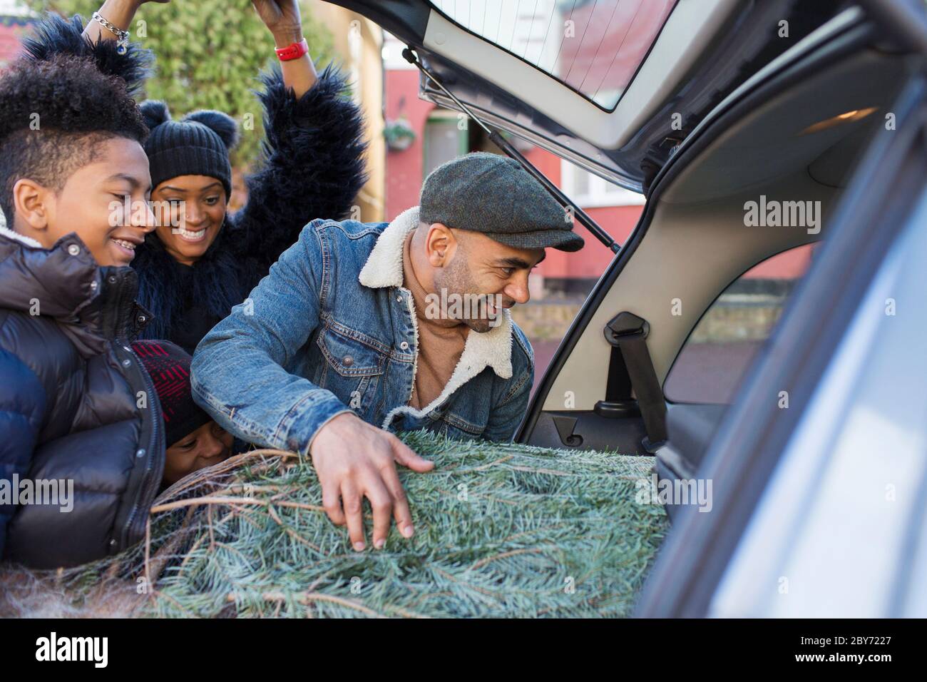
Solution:
<path fill-rule="evenodd" d="M 476 152 L 425 179 L 391 223 L 313 220 L 193 357 L 194 398 L 227 431 L 311 457 L 329 518 L 362 550 L 413 534 L 395 462 L 433 464 L 387 430 L 511 441 L 534 355 L 508 308 L 547 248 L 583 240 L 540 184 Z"/>

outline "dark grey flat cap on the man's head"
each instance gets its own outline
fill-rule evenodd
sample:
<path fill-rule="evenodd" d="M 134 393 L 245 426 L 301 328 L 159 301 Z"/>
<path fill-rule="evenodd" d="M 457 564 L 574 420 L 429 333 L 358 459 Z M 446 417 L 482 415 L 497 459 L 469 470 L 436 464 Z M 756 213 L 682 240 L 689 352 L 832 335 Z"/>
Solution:
<path fill-rule="evenodd" d="M 482 232 L 515 249 L 579 251 L 566 212 L 518 161 L 476 151 L 428 174 L 419 220 Z"/>

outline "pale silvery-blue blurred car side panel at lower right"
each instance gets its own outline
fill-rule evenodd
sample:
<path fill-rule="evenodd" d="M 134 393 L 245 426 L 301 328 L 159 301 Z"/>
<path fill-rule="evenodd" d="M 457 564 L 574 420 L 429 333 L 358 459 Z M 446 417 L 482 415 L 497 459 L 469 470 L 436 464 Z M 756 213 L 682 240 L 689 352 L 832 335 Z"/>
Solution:
<path fill-rule="evenodd" d="M 927 612 L 927 589 L 905 580 L 925 569 L 911 560 L 927 509 L 927 354 L 908 353 L 927 337 L 924 225 L 927 192 L 804 410 L 710 615 L 913 616 L 916 595 L 910 606 Z"/>

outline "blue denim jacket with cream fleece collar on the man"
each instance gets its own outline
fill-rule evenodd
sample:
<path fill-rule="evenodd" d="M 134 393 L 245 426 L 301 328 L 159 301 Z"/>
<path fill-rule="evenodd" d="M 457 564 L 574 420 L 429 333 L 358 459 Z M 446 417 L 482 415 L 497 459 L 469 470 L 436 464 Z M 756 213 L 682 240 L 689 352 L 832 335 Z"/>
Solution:
<path fill-rule="evenodd" d="M 389 224 L 306 225 L 197 346 L 197 404 L 243 440 L 302 454 L 329 419 L 349 411 L 384 429 L 511 441 L 534 355 L 507 310 L 496 327 L 467 335 L 438 398 L 409 405 L 418 324 L 402 286 L 402 247 L 417 225 L 418 207 Z"/>

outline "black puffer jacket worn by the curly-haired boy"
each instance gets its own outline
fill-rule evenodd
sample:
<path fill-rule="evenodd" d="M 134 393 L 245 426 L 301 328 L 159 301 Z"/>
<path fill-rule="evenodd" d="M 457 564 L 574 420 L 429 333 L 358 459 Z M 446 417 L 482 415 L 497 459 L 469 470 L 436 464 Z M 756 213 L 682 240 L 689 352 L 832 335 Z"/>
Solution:
<path fill-rule="evenodd" d="M 145 534 L 164 430 L 128 341 L 148 318 L 136 290 L 131 267 L 100 267 L 75 234 L 46 251 L 0 229 L 0 479 L 74 491 L 70 512 L 0 506 L 5 560 L 73 566 Z"/>

